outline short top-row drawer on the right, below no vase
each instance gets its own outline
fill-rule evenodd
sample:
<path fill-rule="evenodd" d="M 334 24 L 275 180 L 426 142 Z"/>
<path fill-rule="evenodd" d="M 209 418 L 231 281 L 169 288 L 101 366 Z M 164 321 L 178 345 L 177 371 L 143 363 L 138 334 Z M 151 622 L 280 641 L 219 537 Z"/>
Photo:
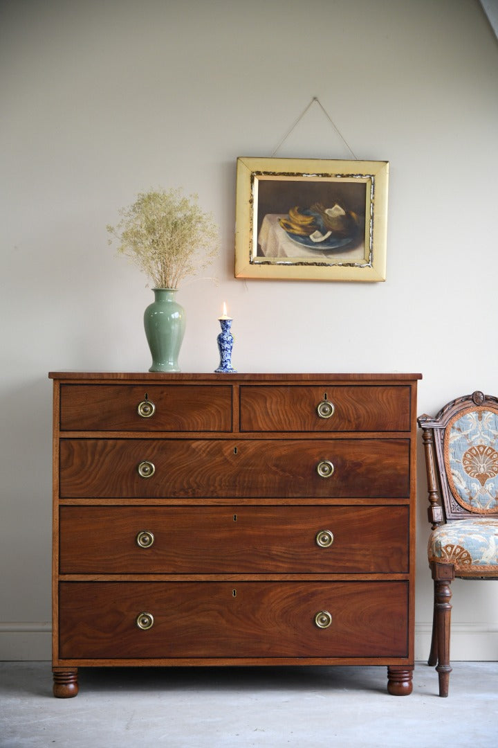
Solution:
<path fill-rule="evenodd" d="M 240 387 L 240 430 L 410 431 L 410 387 Z"/>

